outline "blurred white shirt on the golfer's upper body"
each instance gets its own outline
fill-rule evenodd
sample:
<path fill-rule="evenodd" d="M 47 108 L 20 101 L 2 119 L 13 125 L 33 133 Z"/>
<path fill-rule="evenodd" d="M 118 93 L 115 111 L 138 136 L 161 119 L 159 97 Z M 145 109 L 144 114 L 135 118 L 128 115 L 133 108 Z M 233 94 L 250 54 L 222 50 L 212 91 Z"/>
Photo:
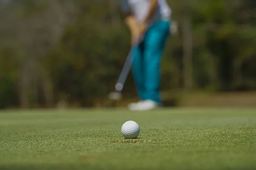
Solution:
<path fill-rule="evenodd" d="M 122 11 L 131 11 L 136 17 L 138 22 L 143 22 L 148 15 L 151 0 L 119 0 L 121 3 Z M 169 18 L 172 10 L 166 3 L 166 0 L 157 0 L 157 11 L 153 17 L 149 20 L 149 23 L 157 22 L 161 19 Z"/>

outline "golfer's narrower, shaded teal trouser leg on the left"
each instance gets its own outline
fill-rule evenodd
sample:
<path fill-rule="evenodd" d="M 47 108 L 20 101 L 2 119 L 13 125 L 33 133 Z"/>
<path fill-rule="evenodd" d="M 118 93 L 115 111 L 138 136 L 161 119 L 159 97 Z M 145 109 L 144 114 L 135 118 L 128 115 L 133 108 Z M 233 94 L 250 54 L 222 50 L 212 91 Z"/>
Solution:
<path fill-rule="evenodd" d="M 143 72 L 143 50 L 142 45 L 134 48 L 132 71 L 135 85 L 141 100 L 145 99 L 144 72 Z"/>

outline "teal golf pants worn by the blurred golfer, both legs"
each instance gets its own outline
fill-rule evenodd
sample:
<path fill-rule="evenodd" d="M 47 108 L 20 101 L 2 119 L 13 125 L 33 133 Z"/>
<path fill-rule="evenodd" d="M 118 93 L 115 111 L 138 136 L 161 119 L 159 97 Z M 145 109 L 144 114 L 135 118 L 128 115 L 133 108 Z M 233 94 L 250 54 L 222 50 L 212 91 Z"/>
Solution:
<path fill-rule="evenodd" d="M 144 40 L 134 48 L 132 71 L 138 94 L 142 100 L 161 103 L 161 59 L 169 37 L 170 21 L 154 23 L 145 33 Z"/>

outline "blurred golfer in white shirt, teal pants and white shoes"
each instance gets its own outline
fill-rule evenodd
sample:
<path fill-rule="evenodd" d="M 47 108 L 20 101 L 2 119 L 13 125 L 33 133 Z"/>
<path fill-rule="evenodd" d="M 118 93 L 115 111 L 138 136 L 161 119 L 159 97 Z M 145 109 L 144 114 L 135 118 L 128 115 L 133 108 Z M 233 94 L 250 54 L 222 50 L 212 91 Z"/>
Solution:
<path fill-rule="evenodd" d="M 158 108 L 162 105 L 160 64 L 169 37 L 171 8 L 166 0 L 119 1 L 131 31 L 131 43 L 136 43 L 132 70 L 141 99 L 128 108 L 133 111 Z"/>

